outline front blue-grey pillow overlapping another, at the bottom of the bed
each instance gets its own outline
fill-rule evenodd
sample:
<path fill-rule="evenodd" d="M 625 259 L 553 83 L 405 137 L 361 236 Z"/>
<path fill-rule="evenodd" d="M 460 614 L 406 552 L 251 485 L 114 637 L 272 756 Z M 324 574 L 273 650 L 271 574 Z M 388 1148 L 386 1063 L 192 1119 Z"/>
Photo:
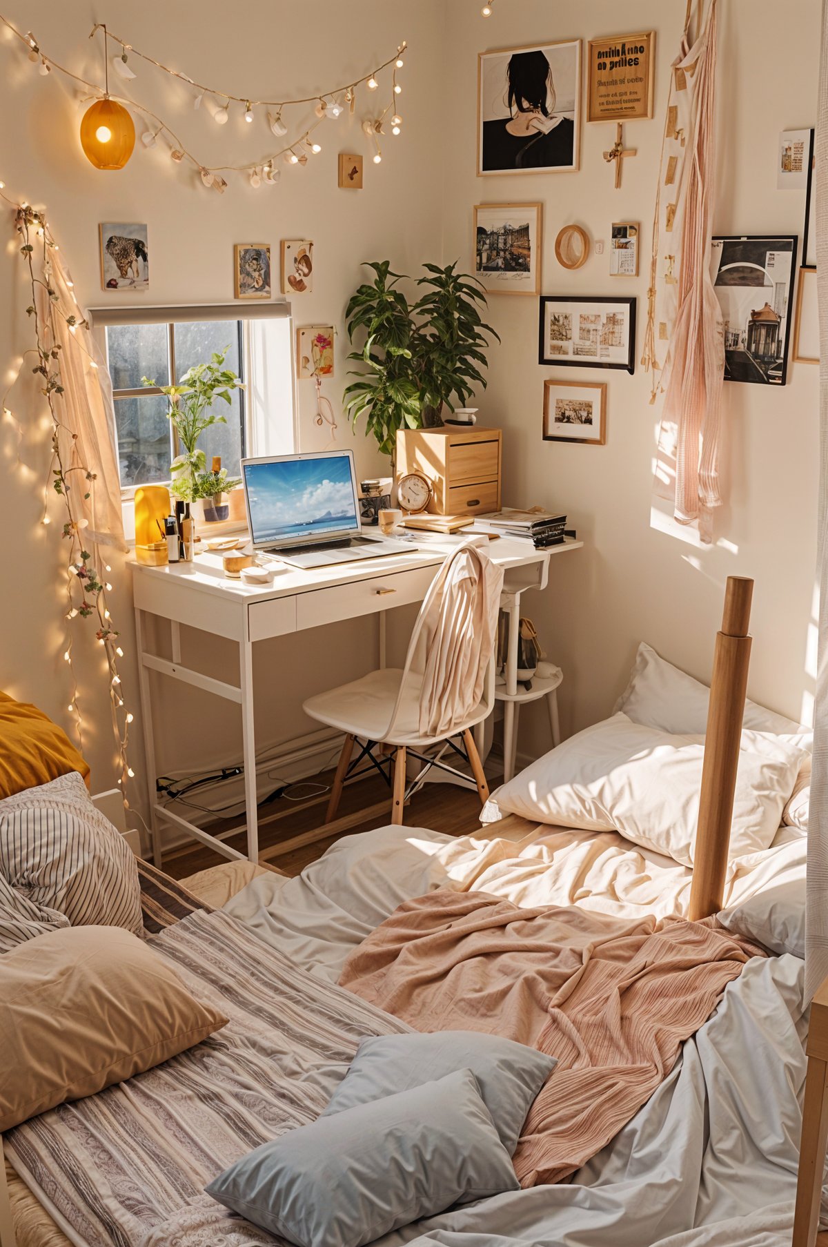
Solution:
<path fill-rule="evenodd" d="M 519 1182 L 470 1070 L 319 1117 L 206 1187 L 298 1247 L 360 1247 Z"/>

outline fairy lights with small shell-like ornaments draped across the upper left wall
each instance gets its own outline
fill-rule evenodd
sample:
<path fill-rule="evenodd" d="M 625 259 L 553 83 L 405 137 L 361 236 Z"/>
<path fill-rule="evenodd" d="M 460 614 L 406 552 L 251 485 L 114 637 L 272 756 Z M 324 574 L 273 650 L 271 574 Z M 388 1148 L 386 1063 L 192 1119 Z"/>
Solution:
<path fill-rule="evenodd" d="M 31 31 L 24 34 L 22 31 L 17 30 L 17 27 L 11 21 L 9 21 L 9 19 L 5 17 L 2 14 L 0 14 L 0 24 L 6 26 L 6 29 L 27 49 L 30 57 L 34 56 L 36 61 L 42 61 L 42 64 L 49 65 L 54 70 L 57 70 L 67 79 L 71 79 L 72 82 L 76 82 L 79 86 L 84 87 L 87 92 L 90 92 L 87 99 L 105 97 L 106 92 L 101 90 L 97 82 L 91 82 L 89 79 L 81 77 L 79 74 L 75 74 L 71 70 L 66 69 L 65 65 L 61 65 L 60 61 L 56 61 L 52 56 L 45 54 L 40 47 L 40 44 L 35 39 L 35 36 L 31 34 Z M 178 79 L 182 82 L 186 82 L 187 86 L 201 92 L 201 95 L 198 96 L 200 102 L 203 95 L 211 95 L 216 100 L 223 100 L 224 101 L 223 106 L 218 108 L 216 113 L 217 121 L 218 120 L 227 121 L 227 111 L 229 108 L 231 102 L 244 105 L 246 112 L 248 113 L 251 108 L 257 108 L 257 107 L 267 108 L 269 127 L 273 131 L 273 133 L 276 133 L 279 137 L 282 131 L 287 133 L 287 127 L 281 120 L 283 108 L 289 108 L 292 106 L 302 106 L 307 104 L 319 104 L 322 101 L 327 102 L 327 100 L 330 100 L 332 104 L 335 104 L 338 97 L 343 96 L 345 104 L 349 105 L 350 112 L 353 113 L 357 100 L 357 87 L 369 86 L 372 81 L 377 82 L 377 75 L 382 74 L 392 65 L 394 66 L 393 90 L 395 95 L 399 95 L 402 87 L 399 87 L 399 84 L 397 82 L 397 69 L 402 66 L 403 52 L 407 51 L 408 49 L 408 42 L 403 40 L 403 42 L 398 46 L 397 52 L 393 56 L 383 61 L 382 65 L 378 65 L 370 72 L 363 75 L 357 80 L 352 80 L 349 84 L 344 86 L 337 86 L 327 91 L 315 92 L 312 96 L 303 96 L 297 99 L 251 100 L 251 97 L 247 95 L 244 96 L 233 95 L 232 92 L 221 91 L 218 89 L 206 86 L 201 82 L 196 82 L 188 75 L 181 74 L 177 70 L 172 70 L 168 66 L 163 65 L 161 61 L 157 61 L 153 57 L 147 56 L 145 52 L 138 51 L 131 44 L 126 42 L 120 36 L 112 34 L 108 29 L 105 29 L 101 22 L 99 22 L 92 29 L 90 39 L 99 30 L 104 30 L 105 44 L 108 45 L 110 41 L 116 44 L 120 49 L 122 49 L 123 55 L 126 55 L 126 52 L 128 51 L 133 56 L 140 56 L 142 60 L 150 62 L 151 65 L 155 65 L 162 72 L 168 74 L 171 77 Z M 108 66 L 108 46 L 105 60 Z M 377 86 L 379 84 L 377 82 Z M 222 177 L 223 173 L 244 173 L 249 177 L 257 168 L 266 168 L 269 166 L 269 170 L 272 171 L 274 163 L 281 158 L 284 158 L 291 163 L 306 165 L 307 160 L 304 158 L 299 158 L 296 161 L 292 160 L 292 155 L 296 155 L 294 148 L 299 148 L 308 142 L 310 135 L 317 130 L 318 126 L 320 126 L 325 121 L 329 112 L 332 116 L 339 116 L 340 112 L 344 111 L 344 108 L 342 108 L 338 104 L 337 108 L 339 111 L 335 113 L 333 111 L 333 107 L 332 108 L 325 107 L 323 110 L 322 116 L 317 116 L 309 126 L 299 131 L 296 138 L 291 140 L 289 142 L 286 142 L 284 147 L 281 147 L 277 151 L 271 152 L 269 155 L 266 155 L 254 162 L 247 161 L 241 165 L 211 165 L 208 162 L 200 160 L 192 151 L 190 151 L 190 148 L 181 141 L 181 138 L 172 130 L 172 127 L 168 126 L 162 117 L 160 117 L 156 112 L 153 112 L 152 108 L 148 108 L 143 104 L 138 104 L 138 101 L 128 96 L 108 94 L 108 99 L 113 100 L 116 104 L 122 104 L 126 108 L 131 108 L 135 112 L 140 113 L 141 117 L 145 118 L 147 122 L 153 122 L 153 125 L 150 126 L 150 128 L 145 132 L 145 135 L 141 136 L 141 141 L 145 147 L 155 146 L 157 143 L 157 140 L 160 137 L 163 137 L 170 143 L 170 157 L 175 163 L 182 163 L 187 161 L 193 167 L 195 172 L 201 177 L 205 186 L 212 187 L 213 190 L 221 193 L 223 193 L 227 190 L 227 182 Z M 276 117 L 271 116 L 269 113 L 271 108 L 276 110 Z M 320 147 L 320 145 L 318 146 Z M 276 182 L 276 180 L 277 178 L 274 175 L 269 178 L 264 178 L 266 182 L 271 183 Z"/>

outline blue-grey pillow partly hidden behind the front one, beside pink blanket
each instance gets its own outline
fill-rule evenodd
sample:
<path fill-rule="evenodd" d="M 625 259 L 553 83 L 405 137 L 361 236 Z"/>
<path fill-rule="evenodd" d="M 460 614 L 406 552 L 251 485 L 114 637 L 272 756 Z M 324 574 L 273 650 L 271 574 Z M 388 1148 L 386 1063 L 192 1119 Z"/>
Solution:
<path fill-rule="evenodd" d="M 363 1039 L 322 1116 L 468 1069 L 478 1080 L 500 1142 L 514 1156 L 535 1096 L 556 1064 L 554 1056 L 525 1044 L 474 1030 Z"/>

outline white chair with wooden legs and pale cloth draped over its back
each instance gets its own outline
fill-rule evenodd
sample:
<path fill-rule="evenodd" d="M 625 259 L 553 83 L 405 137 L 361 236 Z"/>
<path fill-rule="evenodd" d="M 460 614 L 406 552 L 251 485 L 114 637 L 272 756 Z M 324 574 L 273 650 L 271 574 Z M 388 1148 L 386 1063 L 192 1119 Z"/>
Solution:
<path fill-rule="evenodd" d="M 471 577 L 463 571 L 453 575 L 463 560 L 466 569 L 471 566 Z M 475 567 L 483 569 L 476 585 L 470 584 Z M 304 702 L 306 715 L 345 733 L 325 823 L 335 817 L 345 779 L 372 767 L 392 787 L 392 822 L 402 823 L 405 802 L 421 787 L 431 767 L 469 778 L 444 761 L 449 751 L 468 759 L 480 802 L 488 801 L 489 786 L 471 729 L 488 718 L 495 703 L 494 651 L 501 587 L 503 570 L 488 555 L 475 546 L 459 546 L 443 564 L 420 607 L 405 666 L 372 671 Z M 431 722 L 438 726 L 431 731 L 423 729 L 424 698 L 436 707 Z M 353 758 L 357 742 L 360 752 Z M 433 752 L 426 754 L 425 749 Z M 364 758 L 368 764 L 358 771 Z M 409 758 L 423 766 L 407 787 Z"/>

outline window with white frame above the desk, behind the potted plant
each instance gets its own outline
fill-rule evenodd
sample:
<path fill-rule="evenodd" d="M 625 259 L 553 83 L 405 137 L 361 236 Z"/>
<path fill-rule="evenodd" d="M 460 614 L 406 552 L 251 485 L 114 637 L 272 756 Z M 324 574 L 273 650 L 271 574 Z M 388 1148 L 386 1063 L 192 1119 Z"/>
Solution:
<path fill-rule="evenodd" d="M 244 455 L 291 454 L 296 449 L 294 383 L 289 306 L 256 309 L 101 308 L 91 322 L 105 352 L 115 403 L 121 489 L 128 499 L 136 485 L 167 484 L 180 453 L 167 418 L 161 385 L 175 384 L 213 352 L 244 383 L 228 405 L 214 410 L 226 423 L 207 429 L 200 446 L 207 464 L 219 455 L 231 476 L 239 475 Z M 156 387 L 145 387 L 148 377 Z M 125 513 L 126 514 L 126 513 Z"/>

